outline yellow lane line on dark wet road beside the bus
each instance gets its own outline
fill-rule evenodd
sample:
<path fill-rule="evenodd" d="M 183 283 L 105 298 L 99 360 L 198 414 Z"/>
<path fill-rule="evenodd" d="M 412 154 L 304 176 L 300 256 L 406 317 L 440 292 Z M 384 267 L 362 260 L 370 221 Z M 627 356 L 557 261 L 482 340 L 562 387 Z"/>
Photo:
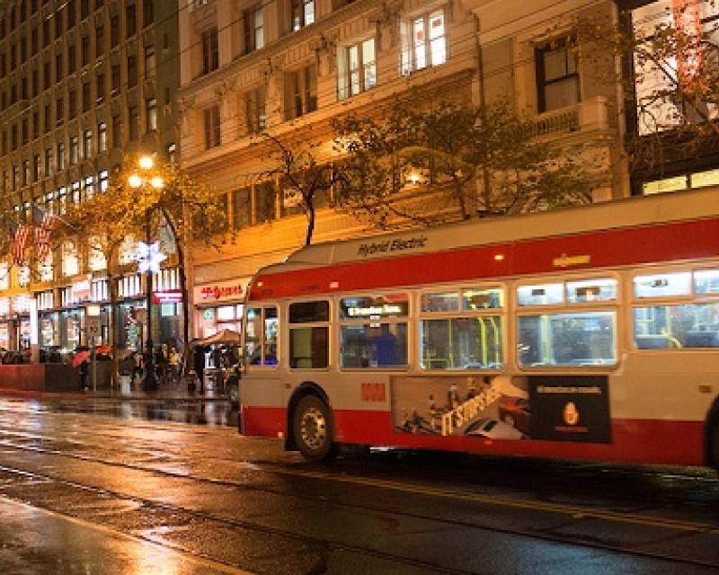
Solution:
<path fill-rule="evenodd" d="M 268 471 L 271 471 L 272 473 L 296 475 L 299 477 L 306 477 L 307 479 L 320 479 L 328 482 L 350 483 L 354 485 L 362 485 L 363 487 L 376 487 L 393 491 L 404 491 L 416 495 L 426 495 L 430 497 L 439 497 L 445 499 L 474 501 L 475 503 L 498 505 L 514 509 L 546 511 L 550 513 L 568 515 L 575 518 L 581 517 L 581 519 L 603 519 L 605 521 L 613 521 L 616 523 L 630 523 L 634 525 L 661 527 L 664 529 L 675 529 L 692 533 L 719 535 L 719 526 L 712 525 L 710 523 L 678 521 L 667 517 L 630 515 L 627 513 L 617 513 L 615 511 L 605 511 L 583 508 L 574 505 L 565 505 L 563 503 L 549 503 L 546 501 L 538 500 L 517 500 L 508 497 L 499 497 L 496 495 L 485 495 L 483 493 L 448 491 L 440 488 L 422 487 L 420 485 L 412 485 L 411 483 L 393 482 L 384 479 L 372 479 L 367 477 L 356 477 L 349 475 L 339 476 L 330 473 L 314 472 L 299 469 L 287 469 L 270 465 L 264 465 L 264 468 Z"/>

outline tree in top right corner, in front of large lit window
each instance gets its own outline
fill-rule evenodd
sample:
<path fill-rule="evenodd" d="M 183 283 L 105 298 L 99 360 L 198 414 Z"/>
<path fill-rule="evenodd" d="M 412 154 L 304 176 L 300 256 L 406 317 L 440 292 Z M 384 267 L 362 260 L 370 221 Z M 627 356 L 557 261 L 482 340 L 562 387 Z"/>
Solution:
<path fill-rule="evenodd" d="M 706 154 L 719 143 L 719 5 L 661 4 L 649 4 L 651 12 L 631 28 L 606 18 L 575 22 L 578 40 L 588 47 L 579 50 L 584 69 L 622 87 L 622 110 L 636 119 L 627 151 L 639 168 Z M 613 58 L 623 60 L 621 74 L 600 65 Z"/>

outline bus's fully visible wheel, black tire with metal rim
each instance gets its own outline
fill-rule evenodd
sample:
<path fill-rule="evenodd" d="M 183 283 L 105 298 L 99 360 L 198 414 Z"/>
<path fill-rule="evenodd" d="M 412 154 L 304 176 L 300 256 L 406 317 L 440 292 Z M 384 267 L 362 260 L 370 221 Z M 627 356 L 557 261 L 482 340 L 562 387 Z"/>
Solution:
<path fill-rule="evenodd" d="M 292 415 L 292 430 L 299 452 L 310 461 L 331 459 L 336 448 L 330 408 L 316 395 L 306 395 Z"/>

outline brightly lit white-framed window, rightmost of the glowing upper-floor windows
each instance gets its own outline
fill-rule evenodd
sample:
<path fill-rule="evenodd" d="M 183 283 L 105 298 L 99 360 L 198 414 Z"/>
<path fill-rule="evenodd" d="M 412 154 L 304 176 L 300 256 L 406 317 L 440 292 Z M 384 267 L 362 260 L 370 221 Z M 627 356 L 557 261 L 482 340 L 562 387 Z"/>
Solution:
<path fill-rule="evenodd" d="M 447 31 L 444 10 L 435 10 L 400 22 L 402 75 L 447 61 Z"/>

